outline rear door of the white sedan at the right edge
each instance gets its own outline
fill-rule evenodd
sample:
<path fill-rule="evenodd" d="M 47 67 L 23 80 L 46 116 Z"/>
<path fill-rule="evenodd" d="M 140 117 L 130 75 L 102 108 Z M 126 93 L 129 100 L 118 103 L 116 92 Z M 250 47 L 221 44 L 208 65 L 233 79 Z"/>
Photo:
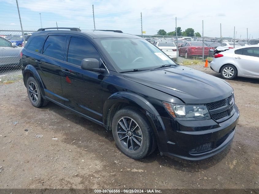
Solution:
<path fill-rule="evenodd" d="M 259 47 L 235 50 L 233 59 L 242 74 L 259 77 Z"/>

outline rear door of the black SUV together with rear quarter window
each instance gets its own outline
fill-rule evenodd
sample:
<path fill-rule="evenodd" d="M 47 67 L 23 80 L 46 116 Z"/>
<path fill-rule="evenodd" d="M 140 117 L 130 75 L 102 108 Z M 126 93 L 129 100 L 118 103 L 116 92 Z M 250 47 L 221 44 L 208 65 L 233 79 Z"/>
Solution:
<path fill-rule="evenodd" d="M 31 51 L 26 60 L 38 71 L 45 86 L 45 95 L 61 104 L 66 100 L 63 98 L 60 79 L 66 40 L 65 34 L 35 36 L 26 47 L 26 50 Z"/>

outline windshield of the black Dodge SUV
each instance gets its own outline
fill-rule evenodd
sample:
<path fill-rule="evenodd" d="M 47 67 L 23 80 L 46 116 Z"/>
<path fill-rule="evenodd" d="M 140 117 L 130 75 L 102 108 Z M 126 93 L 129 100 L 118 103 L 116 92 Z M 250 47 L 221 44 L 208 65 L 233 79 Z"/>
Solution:
<path fill-rule="evenodd" d="M 154 69 L 162 65 L 176 65 L 160 49 L 143 39 L 107 38 L 101 45 L 114 62 L 118 71 Z"/>

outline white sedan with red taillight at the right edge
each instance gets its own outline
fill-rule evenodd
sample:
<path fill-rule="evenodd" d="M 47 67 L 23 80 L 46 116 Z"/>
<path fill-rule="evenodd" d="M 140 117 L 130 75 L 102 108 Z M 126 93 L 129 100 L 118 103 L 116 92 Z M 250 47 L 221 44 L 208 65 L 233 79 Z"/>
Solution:
<path fill-rule="evenodd" d="M 214 55 L 211 69 L 224 79 L 236 76 L 259 78 L 259 45 L 249 45 L 223 51 Z"/>

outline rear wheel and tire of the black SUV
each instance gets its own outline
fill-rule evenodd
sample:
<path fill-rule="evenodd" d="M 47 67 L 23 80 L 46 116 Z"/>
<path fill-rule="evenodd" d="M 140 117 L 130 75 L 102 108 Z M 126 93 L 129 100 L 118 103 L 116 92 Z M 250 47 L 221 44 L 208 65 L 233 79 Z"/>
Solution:
<path fill-rule="evenodd" d="M 33 106 L 40 108 L 48 104 L 41 95 L 39 84 L 33 77 L 29 77 L 26 84 L 27 94 Z"/>

